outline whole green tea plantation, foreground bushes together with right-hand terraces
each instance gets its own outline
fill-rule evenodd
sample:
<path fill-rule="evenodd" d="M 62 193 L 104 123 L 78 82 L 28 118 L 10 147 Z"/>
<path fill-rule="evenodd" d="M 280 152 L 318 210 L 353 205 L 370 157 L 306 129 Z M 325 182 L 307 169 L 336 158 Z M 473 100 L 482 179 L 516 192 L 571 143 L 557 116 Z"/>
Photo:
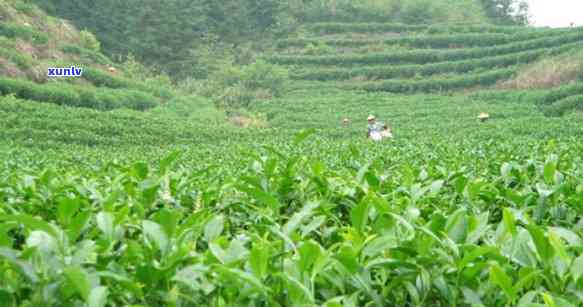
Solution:
<path fill-rule="evenodd" d="M 582 306 L 583 80 L 496 87 L 582 30 L 308 30 L 264 56 L 292 76 L 265 128 L 101 71 L 0 78 L 0 306 Z"/>

